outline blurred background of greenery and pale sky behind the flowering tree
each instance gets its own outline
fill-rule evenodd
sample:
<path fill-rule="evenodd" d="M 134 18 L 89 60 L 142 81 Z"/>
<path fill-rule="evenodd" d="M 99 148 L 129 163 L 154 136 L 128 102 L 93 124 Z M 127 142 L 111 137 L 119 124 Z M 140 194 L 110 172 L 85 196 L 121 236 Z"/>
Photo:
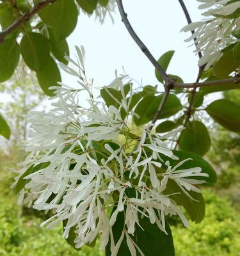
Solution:
<path fill-rule="evenodd" d="M 146 1 L 132 0 L 125 3 L 125 8 L 136 31 L 154 56 L 158 58 L 166 51 L 175 50 L 170 73 L 179 74 L 185 82 L 191 82 L 198 72 L 197 57 L 192 53 L 193 47 L 184 43 L 188 35 L 179 33 L 186 25 L 185 17 L 173 1 L 165 1 L 164 8 L 159 2 L 152 0 L 152 4 L 146 5 L 143 4 Z M 197 6 L 196 1 L 189 1 L 189 12 L 194 21 L 200 19 Z M 83 44 L 88 76 L 95 77 L 96 88 L 111 83 L 115 78 L 115 68 L 119 73 L 124 72 L 122 66 L 129 76 L 140 83 L 156 85 L 154 69 L 132 42 L 118 13 L 113 14 L 113 19 L 115 24 L 108 17 L 100 25 L 93 17 L 81 15 L 76 30 L 68 38 L 72 56 L 74 45 Z M 161 26 L 155 25 L 156 19 Z M 174 21 L 176 19 L 177 22 Z M 72 77 L 65 74 L 62 77 L 63 83 L 76 84 Z M 0 140 L 0 255 L 104 255 L 99 253 L 97 245 L 75 251 L 61 238 L 61 226 L 53 230 L 40 228 L 47 213 L 17 205 L 17 197 L 10 189 L 15 177 L 13 170 L 17 170 L 18 163 L 26 156 L 24 141 L 28 138 L 29 124 L 24 116 L 30 110 L 45 111 L 50 106 L 36 84 L 35 74 L 23 63 L 19 64 L 10 81 L 0 83 L 1 113 L 12 129 L 10 142 L 3 138 Z M 229 91 L 221 97 L 240 106 L 239 90 Z M 213 99 L 214 95 L 211 95 L 207 102 Z M 191 227 L 186 229 L 178 220 L 170 218 L 177 256 L 240 255 L 240 136 L 213 124 L 211 139 L 213 146 L 206 158 L 218 173 L 218 183 L 214 189 L 204 190 L 206 211 L 202 223 L 191 223 Z"/>

